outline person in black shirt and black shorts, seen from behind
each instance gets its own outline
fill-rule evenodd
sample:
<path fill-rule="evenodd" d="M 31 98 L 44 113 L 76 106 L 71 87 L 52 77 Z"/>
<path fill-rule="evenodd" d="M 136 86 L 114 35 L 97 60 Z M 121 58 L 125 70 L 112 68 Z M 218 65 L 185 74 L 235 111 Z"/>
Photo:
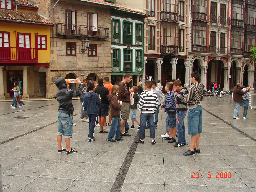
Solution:
<path fill-rule="evenodd" d="M 95 93 L 97 93 L 101 97 L 101 104 L 99 106 L 99 125 L 100 125 L 100 131 L 99 133 L 108 133 L 107 131 L 103 130 L 104 122 L 106 120 L 106 116 L 108 116 L 108 105 L 109 101 L 108 98 L 106 98 L 107 95 L 109 95 L 108 88 L 105 88 L 103 86 L 103 79 L 98 79 L 98 87 L 95 89 Z"/>

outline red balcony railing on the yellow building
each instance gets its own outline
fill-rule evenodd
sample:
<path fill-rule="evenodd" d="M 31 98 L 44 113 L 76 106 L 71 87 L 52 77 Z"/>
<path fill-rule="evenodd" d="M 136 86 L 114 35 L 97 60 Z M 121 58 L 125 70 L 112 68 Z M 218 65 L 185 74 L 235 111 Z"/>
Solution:
<path fill-rule="evenodd" d="M 0 47 L 0 63 L 38 63 L 38 49 Z"/>

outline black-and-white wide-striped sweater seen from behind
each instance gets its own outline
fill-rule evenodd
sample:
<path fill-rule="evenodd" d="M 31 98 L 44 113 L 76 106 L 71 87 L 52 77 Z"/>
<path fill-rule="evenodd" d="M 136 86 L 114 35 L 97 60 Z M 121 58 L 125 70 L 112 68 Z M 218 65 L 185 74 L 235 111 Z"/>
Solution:
<path fill-rule="evenodd" d="M 158 106 L 157 94 L 153 91 L 143 91 L 140 95 L 139 108 L 141 113 L 155 113 Z"/>

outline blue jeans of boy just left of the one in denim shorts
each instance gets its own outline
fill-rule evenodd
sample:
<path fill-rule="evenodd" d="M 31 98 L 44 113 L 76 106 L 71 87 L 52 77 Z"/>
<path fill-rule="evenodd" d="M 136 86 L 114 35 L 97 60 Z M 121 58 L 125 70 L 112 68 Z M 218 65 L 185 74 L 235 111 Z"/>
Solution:
<path fill-rule="evenodd" d="M 177 111 L 176 113 L 176 130 L 178 136 L 179 144 L 186 144 L 186 136 L 185 136 L 185 117 L 187 111 Z"/>

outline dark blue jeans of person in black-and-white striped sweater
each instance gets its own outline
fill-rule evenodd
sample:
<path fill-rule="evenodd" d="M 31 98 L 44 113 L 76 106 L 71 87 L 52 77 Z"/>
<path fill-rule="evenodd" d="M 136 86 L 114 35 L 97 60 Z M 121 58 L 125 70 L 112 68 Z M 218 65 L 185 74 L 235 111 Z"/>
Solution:
<path fill-rule="evenodd" d="M 140 139 L 145 139 L 146 121 L 150 126 L 150 138 L 155 138 L 154 113 L 141 113 L 140 115 Z"/>

